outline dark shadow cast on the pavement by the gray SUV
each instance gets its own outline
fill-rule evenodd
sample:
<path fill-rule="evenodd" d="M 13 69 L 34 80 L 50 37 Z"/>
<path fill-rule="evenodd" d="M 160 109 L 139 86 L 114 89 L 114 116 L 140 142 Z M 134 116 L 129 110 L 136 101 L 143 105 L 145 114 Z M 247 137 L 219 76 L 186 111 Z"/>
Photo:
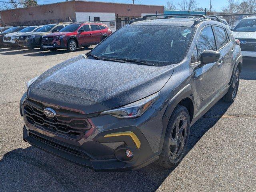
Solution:
<path fill-rule="evenodd" d="M 192 127 L 188 144 L 193 146 L 226 112 L 230 103 L 219 101 Z M 128 172 L 94 172 L 48 154 L 33 146 L 4 154 L 0 161 L 3 191 L 155 191 L 175 169 L 150 164 Z"/>

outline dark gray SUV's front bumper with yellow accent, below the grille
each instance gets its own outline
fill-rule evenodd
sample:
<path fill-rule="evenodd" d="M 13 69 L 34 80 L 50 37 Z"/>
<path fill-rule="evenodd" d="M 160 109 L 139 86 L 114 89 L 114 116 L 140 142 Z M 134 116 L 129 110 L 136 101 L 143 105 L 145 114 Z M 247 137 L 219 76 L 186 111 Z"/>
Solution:
<path fill-rule="evenodd" d="M 29 123 L 25 103 L 26 95 L 20 103 L 25 123 L 24 141 L 78 165 L 96 171 L 136 170 L 154 162 L 161 152 L 158 143 L 164 117 L 154 109 L 148 109 L 136 119 L 118 119 L 111 115 L 87 117 L 92 127 L 82 138 L 72 139 Z M 126 149 L 132 151 L 132 158 L 126 158 Z"/>

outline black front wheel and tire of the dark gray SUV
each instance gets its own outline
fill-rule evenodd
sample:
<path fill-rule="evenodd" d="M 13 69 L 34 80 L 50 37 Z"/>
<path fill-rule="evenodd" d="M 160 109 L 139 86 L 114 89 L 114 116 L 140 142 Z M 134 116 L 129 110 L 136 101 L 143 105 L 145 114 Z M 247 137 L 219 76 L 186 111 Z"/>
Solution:
<path fill-rule="evenodd" d="M 156 160 L 158 166 L 171 168 L 184 157 L 190 133 L 190 116 L 186 107 L 177 105 L 167 125 L 162 153 Z"/>

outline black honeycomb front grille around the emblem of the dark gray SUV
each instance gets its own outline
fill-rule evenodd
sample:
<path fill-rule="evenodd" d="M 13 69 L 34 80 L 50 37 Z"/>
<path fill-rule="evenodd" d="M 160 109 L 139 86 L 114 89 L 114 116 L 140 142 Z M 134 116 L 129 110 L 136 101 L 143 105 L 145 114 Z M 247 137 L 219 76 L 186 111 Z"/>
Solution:
<path fill-rule="evenodd" d="M 56 112 L 53 118 L 44 115 L 44 109 L 52 108 Z M 64 135 L 70 139 L 79 140 L 91 128 L 90 123 L 78 111 L 49 106 L 44 103 L 27 99 L 23 104 L 24 117 L 31 125 L 54 134 Z"/>

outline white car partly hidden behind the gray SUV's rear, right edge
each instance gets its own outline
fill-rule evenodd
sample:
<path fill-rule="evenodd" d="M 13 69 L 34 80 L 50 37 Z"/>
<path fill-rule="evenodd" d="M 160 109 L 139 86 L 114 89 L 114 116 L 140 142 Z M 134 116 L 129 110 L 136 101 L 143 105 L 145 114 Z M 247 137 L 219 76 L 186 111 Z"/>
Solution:
<path fill-rule="evenodd" d="M 240 41 L 243 57 L 256 57 L 256 17 L 242 19 L 232 31 Z"/>

